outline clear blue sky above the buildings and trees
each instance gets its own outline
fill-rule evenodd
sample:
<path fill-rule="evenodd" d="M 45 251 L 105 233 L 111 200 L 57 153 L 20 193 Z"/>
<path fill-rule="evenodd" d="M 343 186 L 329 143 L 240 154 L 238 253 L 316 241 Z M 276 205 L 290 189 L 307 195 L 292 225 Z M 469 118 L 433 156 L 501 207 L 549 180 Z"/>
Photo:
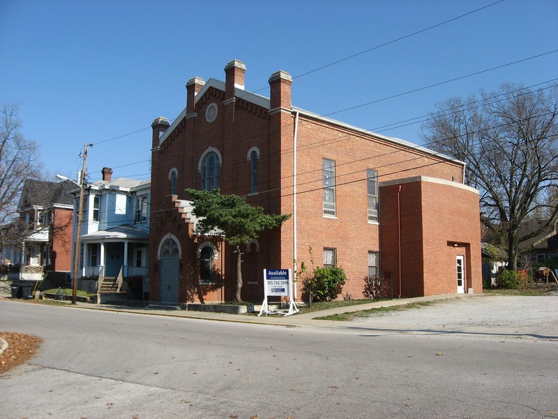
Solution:
<path fill-rule="evenodd" d="M 75 177 L 93 143 L 91 181 L 149 179 L 153 119 L 233 59 L 247 90 L 284 70 L 293 105 L 421 144 L 401 122 L 446 98 L 558 78 L 558 1 L 496 1 L 1 0 L 0 103 L 20 103 L 46 176 Z"/>

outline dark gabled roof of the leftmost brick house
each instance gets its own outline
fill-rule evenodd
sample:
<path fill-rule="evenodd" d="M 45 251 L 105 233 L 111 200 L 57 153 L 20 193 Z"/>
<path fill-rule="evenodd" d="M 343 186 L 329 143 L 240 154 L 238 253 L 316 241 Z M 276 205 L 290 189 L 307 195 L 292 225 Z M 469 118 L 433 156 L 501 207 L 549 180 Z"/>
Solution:
<path fill-rule="evenodd" d="M 27 179 L 22 189 L 18 208 L 47 208 L 52 205 L 73 205 L 73 196 L 69 193 L 74 189 L 72 182 L 47 182 L 44 180 Z"/>

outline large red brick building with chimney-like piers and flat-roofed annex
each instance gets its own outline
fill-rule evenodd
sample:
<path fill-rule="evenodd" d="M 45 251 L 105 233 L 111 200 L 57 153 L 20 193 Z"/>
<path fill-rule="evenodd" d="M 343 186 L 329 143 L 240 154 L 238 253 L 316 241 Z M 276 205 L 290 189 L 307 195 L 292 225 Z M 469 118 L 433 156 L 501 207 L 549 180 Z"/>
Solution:
<path fill-rule="evenodd" d="M 185 193 L 216 187 L 292 214 L 243 248 L 243 300 L 263 299 L 265 268 L 311 269 L 312 257 L 345 270 L 345 297 L 362 297 L 372 274 L 394 296 L 482 292 L 465 163 L 295 108 L 284 71 L 269 78 L 269 98 L 250 93 L 245 73 L 232 61 L 225 82 L 191 79 L 181 114 L 152 124 L 150 300 L 233 299 L 236 255 L 223 237 L 196 233 Z"/>

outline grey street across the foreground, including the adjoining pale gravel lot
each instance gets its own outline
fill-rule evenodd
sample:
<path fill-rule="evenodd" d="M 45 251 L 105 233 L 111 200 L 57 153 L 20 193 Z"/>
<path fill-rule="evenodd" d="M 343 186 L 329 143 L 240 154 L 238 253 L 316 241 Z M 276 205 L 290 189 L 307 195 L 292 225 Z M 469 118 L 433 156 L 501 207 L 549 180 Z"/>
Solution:
<path fill-rule="evenodd" d="M 293 327 L 0 301 L 45 339 L 0 417 L 558 418 L 557 321 L 558 297 Z"/>

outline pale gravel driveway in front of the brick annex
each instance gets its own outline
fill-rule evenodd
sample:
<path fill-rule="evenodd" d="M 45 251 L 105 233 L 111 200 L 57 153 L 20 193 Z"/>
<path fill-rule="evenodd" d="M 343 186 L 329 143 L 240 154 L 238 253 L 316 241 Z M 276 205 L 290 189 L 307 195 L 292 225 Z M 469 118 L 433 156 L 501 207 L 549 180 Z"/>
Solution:
<path fill-rule="evenodd" d="M 558 296 L 478 295 L 375 314 L 354 323 L 392 332 L 463 332 L 558 340 Z"/>

